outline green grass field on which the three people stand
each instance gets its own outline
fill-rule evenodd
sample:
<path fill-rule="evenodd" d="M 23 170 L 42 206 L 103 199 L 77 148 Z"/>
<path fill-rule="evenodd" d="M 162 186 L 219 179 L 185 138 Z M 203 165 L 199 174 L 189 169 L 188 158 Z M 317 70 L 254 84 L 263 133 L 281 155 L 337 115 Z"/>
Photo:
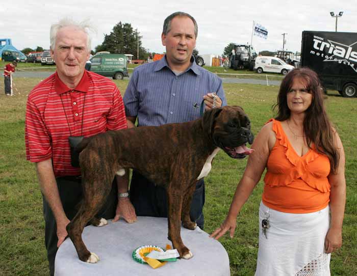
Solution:
<path fill-rule="evenodd" d="M 17 91 L 9 97 L 4 95 L 4 82 L 0 78 L 1 276 L 48 274 L 42 198 L 34 165 L 25 160 L 23 138 L 27 95 L 39 81 L 36 78 L 17 78 Z M 115 82 L 123 94 L 128 81 Z M 275 103 L 278 87 L 224 84 L 224 90 L 228 104 L 241 105 L 245 109 L 254 134 L 273 116 L 271 106 Z M 357 98 L 346 99 L 338 92 L 331 92 L 326 105 L 344 145 L 347 183 L 343 246 L 331 256 L 331 274 L 354 276 L 357 275 Z M 216 156 L 213 169 L 206 178 L 206 232 L 211 233 L 225 218 L 246 161 L 231 159 L 222 152 Z M 230 257 L 232 275 L 254 274 L 262 188 L 261 181 L 242 208 L 235 237 L 220 239 Z"/>

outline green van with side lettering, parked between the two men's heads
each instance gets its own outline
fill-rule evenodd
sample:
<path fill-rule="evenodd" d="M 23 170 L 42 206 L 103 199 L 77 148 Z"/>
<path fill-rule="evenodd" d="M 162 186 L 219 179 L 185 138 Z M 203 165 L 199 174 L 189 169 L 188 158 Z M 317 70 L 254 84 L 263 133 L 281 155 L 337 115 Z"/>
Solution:
<path fill-rule="evenodd" d="M 129 77 L 127 57 L 121 53 L 98 53 L 90 59 L 89 71 L 114 79 Z M 88 66 L 89 67 L 89 66 Z M 86 68 L 88 69 L 86 66 Z"/>

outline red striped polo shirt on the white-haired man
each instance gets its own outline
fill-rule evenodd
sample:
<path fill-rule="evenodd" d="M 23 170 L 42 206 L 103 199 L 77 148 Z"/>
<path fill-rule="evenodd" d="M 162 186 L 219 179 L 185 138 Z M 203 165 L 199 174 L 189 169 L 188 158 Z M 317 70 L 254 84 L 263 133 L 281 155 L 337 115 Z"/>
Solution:
<path fill-rule="evenodd" d="M 68 136 L 88 137 L 123 128 L 126 128 L 124 104 L 113 81 L 85 71 L 78 86 L 70 89 L 56 72 L 29 94 L 26 158 L 31 162 L 52 158 L 56 177 L 80 175 L 80 169 L 70 164 Z"/>

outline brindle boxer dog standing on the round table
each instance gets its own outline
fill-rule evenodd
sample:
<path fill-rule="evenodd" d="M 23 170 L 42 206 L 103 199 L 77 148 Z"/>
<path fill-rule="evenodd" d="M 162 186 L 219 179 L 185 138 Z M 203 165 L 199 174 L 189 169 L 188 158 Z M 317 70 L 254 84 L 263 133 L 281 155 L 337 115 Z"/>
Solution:
<path fill-rule="evenodd" d="M 82 168 L 83 203 L 67 226 L 67 231 L 80 260 L 96 263 L 99 258 L 87 250 L 82 232 L 91 221 L 107 224 L 94 215 L 111 190 L 115 175 L 133 168 L 152 182 L 166 188 L 168 199 L 168 237 L 184 259 L 193 254 L 181 239 L 181 222 L 195 229 L 190 219 L 190 206 L 197 180 L 211 170 L 219 149 L 232 158 L 244 158 L 252 150 L 250 121 L 239 106 L 215 108 L 201 119 L 157 127 L 138 127 L 107 131 L 84 139 L 77 147 Z"/>

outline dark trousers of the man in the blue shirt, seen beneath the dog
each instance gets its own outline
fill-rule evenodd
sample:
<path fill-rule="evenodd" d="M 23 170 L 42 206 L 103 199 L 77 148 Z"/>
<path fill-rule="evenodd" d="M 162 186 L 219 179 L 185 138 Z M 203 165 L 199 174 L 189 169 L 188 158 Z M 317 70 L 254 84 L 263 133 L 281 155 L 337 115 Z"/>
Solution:
<path fill-rule="evenodd" d="M 130 200 L 139 216 L 167 217 L 167 197 L 163 187 L 156 186 L 144 176 L 133 170 L 130 184 Z M 190 217 L 199 228 L 203 229 L 205 217 L 203 205 L 205 204 L 205 182 L 203 179 L 196 184 L 190 209 Z"/>

